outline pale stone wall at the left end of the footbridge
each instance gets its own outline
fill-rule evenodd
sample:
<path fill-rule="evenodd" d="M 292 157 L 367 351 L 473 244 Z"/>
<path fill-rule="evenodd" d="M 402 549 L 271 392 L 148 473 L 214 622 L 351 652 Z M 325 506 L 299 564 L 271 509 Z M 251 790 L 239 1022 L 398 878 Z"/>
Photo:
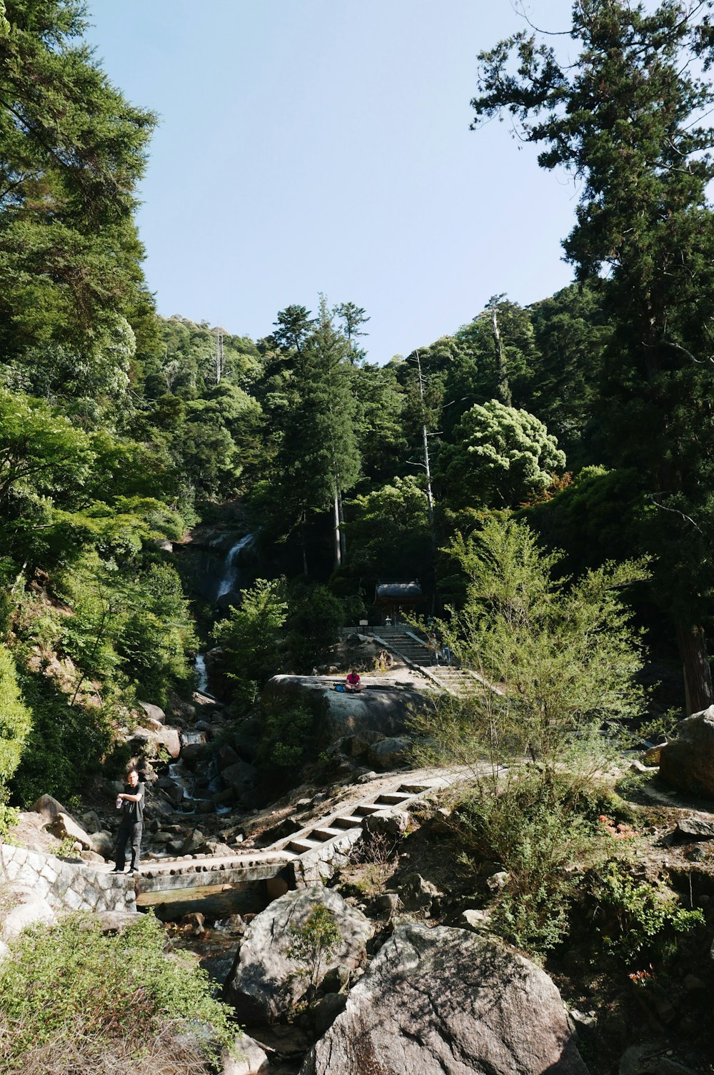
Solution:
<path fill-rule="evenodd" d="M 53 911 L 136 911 L 133 877 L 0 844 L 0 885 L 21 885 Z"/>

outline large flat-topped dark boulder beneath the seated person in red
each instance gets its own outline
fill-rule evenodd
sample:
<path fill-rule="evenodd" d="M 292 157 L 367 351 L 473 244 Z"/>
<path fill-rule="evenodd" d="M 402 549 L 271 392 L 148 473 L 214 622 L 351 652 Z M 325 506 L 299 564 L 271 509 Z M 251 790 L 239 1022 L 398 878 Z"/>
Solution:
<path fill-rule="evenodd" d="M 265 685 L 262 704 L 285 708 L 306 705 L 315 714 L 323 745 L 344 735 L 365 731 L 400 735 L 416 710 L 426 704 L 424 694 L 404 684 L 368 683 L 359 694 L 335 690 L 332 679 L 318 676 L 276 675 Z"/>

